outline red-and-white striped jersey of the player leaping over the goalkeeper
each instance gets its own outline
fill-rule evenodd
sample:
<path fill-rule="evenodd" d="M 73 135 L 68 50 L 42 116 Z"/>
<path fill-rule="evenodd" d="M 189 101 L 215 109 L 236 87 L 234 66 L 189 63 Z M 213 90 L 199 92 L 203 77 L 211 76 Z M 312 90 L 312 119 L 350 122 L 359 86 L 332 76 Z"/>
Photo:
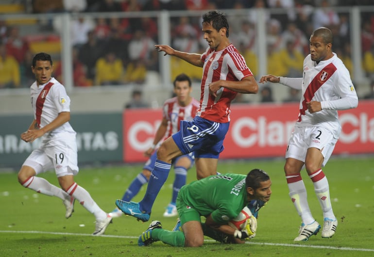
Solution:
<path fill-rule="evenodd" d="M 217 80 L 240 81 L 253 74 L 243 56 L 231 44 L 217 52 L 207 48 L 201 55 L 201 60 L 204 66 L 201 80 L 201 107 L 197 115 L 214 122 L 229 122 L 230 104 L 237 92 L 222 87 L 214 97 L 209 94 L 209 84 Z"/>

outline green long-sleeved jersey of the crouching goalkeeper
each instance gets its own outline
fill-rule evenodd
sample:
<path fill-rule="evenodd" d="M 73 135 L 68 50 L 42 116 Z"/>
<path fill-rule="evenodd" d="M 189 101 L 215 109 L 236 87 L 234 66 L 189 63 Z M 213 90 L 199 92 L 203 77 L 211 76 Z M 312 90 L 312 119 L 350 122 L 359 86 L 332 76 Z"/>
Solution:
<path fill-rule="evenodd" d="M 212 214 L 216 223 L 226 224 L 248 204 L 245 178 L 230 173 L 205 177 L 183 186 L 178 198 L 201 216 Z"/>

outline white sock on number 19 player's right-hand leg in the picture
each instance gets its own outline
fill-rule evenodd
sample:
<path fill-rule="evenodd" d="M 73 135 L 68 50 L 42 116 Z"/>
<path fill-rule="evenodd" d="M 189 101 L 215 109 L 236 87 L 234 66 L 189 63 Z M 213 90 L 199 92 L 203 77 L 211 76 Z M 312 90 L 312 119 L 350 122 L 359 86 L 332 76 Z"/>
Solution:
<path fill-rule="evenodd" d="M 97 221 L 102 221 L 106 218 L 106 212 L 103 211 L 92 199 L 91 195 L 83 187 L 78 186 L 77 183 L 72 184 L 68 188 L 67 193 L 77 199 L 85 209 L 95 215 Z"/>

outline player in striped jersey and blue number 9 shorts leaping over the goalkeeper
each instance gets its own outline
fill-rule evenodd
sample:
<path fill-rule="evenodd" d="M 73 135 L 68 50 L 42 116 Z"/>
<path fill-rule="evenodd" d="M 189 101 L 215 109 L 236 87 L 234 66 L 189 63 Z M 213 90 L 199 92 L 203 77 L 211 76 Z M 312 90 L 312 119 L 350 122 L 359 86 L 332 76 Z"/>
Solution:
<path fill-rule="evenodd" d="M 203 34 L 208 43 L 203 54 L 177 51 L 167 45 L 155 45 L 164 55 L 172 55 L 203 68 L 200 108 L 192 121 L 181 121 L 180 131 L 165 140 L 157 150 L 157 160 L 147 191 L 139 202 L 117 200 L 124 213 L 148 221 L 157 194 L 165 183 L 171 160 L 195 152 L 197 178 L 217 173 L 223 139 L 230 124 L 230 104 L 238 93 L 256 94 L 258 84 L 243 56 L 229 41 L 229 24 L 218 11 L 203 15 Z"/>

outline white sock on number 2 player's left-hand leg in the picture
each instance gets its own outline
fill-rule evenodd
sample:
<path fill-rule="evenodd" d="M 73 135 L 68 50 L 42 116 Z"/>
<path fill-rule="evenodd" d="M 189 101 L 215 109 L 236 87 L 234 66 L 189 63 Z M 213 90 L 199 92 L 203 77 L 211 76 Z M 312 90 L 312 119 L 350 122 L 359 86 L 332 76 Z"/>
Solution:
<path fill-rule="evenodd" d="M 299 174 L 286 176 L 289 187 L 289 197 L 295 206 L 297 213 L 305 225 L 315 221 L 313 218 L 307 200 L 306 188 L 303 179 Z"/>

